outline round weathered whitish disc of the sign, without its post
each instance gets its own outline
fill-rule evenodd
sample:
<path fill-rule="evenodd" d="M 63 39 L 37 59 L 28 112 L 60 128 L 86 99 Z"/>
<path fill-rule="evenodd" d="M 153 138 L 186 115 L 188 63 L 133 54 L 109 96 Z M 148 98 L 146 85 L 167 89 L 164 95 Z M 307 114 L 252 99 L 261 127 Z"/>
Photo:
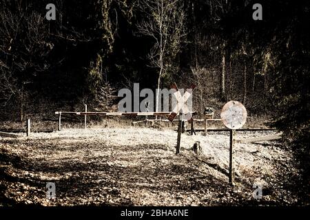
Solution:
<path fill-rule="evenodd" d="M 224 105 L 220 118 L 227 128 L 240 129 L 247 121 L 247 109 L 238 101 L 230 101 Z"/>

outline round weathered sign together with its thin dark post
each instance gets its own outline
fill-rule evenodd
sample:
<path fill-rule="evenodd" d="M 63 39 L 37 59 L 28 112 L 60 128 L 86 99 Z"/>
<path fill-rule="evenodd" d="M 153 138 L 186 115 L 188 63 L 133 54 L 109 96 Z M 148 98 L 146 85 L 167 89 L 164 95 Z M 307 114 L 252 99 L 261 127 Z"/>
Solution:
<path fill-rule="evenodd" d="M 237 101 L 227 102 L 222 111 L 220 118 L 229 131 L 229 183 L 234 184 L 235 166 L 234 166 L 234 142 L 236 129 L 240 129 L 247 121 L 247 109 Z"/>

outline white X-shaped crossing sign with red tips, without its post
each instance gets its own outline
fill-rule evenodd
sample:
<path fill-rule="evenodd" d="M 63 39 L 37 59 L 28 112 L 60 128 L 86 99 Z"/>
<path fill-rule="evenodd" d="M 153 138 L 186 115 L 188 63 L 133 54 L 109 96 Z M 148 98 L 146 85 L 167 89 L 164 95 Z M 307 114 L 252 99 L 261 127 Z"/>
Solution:
<path fill-rule="evenodd" d="M 176 92 L 174 92 L 174 96 L 176 97 L 176 101 L 178 102 L 176 104 L 176 107 L 172 110 L 172 113 L 169 115 L 168 120 L 170 122 L 173 122 L 174 118 L 176 118 L 176 115 L 182 111 L 182 113 L 185 115 L 185 119 L 189 122 L 193 121 L 192 113 L 189 111 L 187 106 L 187 100 L 190 96 L 192 96 L 193 90 L 196 88 L 195 85 L 192 85 L 189 89 L 186 89 L 184 95 L 180 93 L 180 90 L 178 90 L 178 87 L 176 83 L 172 86 L 172 89 L 176 89 Z"/>

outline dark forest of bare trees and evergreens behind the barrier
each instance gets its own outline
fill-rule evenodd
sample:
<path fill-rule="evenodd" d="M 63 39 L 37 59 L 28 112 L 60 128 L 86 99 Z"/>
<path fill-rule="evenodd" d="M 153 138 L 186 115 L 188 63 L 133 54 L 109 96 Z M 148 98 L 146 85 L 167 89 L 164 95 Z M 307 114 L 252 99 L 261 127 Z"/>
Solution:
<path fill-rule="evenodd" d="M 283 132 L 309 204 L 309 1 L 0 1 L 1 126 L 84 104 L 111 111 L 134 83 L 194 84 L 196 112 L 238 100 L 254 122 Z"/>

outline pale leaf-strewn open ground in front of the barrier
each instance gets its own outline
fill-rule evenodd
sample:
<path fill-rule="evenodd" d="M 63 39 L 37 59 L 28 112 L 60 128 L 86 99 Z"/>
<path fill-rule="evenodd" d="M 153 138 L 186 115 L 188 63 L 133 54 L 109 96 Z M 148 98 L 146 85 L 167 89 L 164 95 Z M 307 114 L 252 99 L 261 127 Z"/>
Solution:
<path fill-rule="evenodd" d="M 275 134 L 238 132 L 236 139 Z M 0 139 L 0 206 L 273 206 L 296 203 L 297 171 L 280 142 L 236 144 L 236 183 L 228 181 L 229 134 L 156 129 L 65 129 Z M 192 146 L 200 142 L 203 155 Z M 45 186 L 56 185 L 56 199 Z M 253 184 L 262 186 L 254 199 Z"/>

